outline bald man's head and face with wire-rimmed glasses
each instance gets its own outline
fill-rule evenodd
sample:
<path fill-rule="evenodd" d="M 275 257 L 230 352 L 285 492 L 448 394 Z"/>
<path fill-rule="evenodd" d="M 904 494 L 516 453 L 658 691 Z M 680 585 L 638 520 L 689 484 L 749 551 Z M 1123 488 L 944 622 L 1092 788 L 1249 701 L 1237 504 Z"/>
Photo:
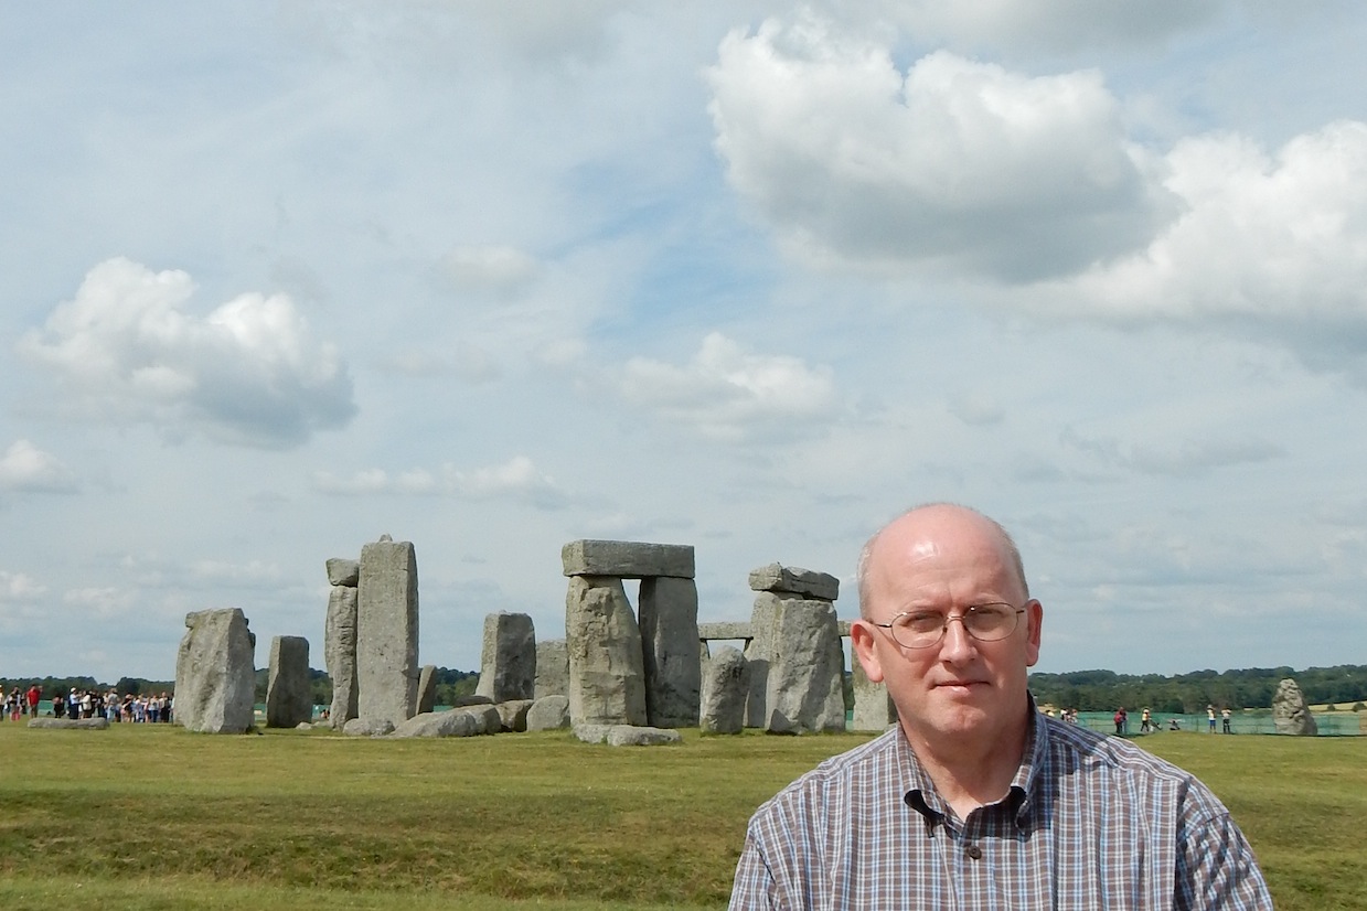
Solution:
<path fill-rule="evenodd" d="M 868 677 L 887 684 L 913 746 L 982 746 L 1024 723 L 1027 668 L 1039 658 L 1043 612 L 1027 601 L 991 523 L 956 507 L 908 514 L 879 535 L 867 574 L 867 619 L 878 623 L 904 611 L 958 616 L 992 601 L 1027 609 L 1005 639 L 979 642 L 956 621 L 924 649 L 899 646 L 889 630 L 852 624 Z"/>

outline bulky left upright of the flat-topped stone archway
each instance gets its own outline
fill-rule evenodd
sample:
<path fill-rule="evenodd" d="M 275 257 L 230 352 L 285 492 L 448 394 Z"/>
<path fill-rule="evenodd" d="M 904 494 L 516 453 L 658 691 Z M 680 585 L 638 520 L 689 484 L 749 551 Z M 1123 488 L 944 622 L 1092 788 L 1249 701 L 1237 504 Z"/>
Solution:
<path fill-rule="evenodd" d="M 565 595 L 574 724 L 645 724 L 641 631 L 622 580 L 573 576 Z"/>

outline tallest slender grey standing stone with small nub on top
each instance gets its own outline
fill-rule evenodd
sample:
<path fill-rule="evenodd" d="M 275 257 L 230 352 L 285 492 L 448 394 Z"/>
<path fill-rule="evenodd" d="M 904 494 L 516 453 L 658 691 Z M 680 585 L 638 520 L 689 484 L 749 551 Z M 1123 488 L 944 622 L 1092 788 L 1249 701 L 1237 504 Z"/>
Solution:
<path fill-rule="evenodd" d="M 361 548 L 355 671 L 361 718 L 398 725 L 418 702 L 418 563 L 390 535 Z"/>

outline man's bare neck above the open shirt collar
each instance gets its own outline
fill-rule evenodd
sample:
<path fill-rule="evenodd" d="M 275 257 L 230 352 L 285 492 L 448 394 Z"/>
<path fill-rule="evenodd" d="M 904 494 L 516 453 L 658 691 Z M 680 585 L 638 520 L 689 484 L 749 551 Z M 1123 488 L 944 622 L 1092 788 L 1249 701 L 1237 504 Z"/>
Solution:
<path fill-rule="evenodd" d="M 1029 717 L 1021 712 L 1014 724 L 990 736 L 938 739 L 934 746 L 905 724 L 902 731 L 940 799 L 960 819 L 966 819 L 977 807 L 1001 800 L 1010 791 L 1025 755 Z"/>

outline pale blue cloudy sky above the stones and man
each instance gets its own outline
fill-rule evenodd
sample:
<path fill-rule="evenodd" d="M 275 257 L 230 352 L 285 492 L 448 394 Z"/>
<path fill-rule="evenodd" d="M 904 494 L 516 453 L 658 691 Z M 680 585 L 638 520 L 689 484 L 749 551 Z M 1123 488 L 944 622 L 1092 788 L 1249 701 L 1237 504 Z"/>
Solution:
<path fill-rule="evenodd" d="M 852 8 L 852 7 L 857 7 Z M 0 5 L 0 676 L 1016 537 L 1038 671 L 1367 662 L 1367 8 Z"/>

